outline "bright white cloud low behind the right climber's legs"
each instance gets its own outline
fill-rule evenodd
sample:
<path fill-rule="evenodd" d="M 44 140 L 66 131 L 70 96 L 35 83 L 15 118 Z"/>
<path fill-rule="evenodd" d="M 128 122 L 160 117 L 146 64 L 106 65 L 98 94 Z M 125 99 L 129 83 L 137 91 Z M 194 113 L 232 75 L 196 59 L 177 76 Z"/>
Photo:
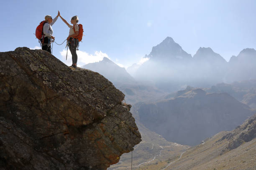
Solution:
<path fill-rule="evenodd" d="M 68 66 L 72 65 L 72 55 L 70 53 L 70 50 L 68 50 L 68 53 L 67 53 L 67 50 L 64 49 L 60 53 L 61 53 L 62 61 L 64 61 L 64 63 Z M 66 55 L 67 55 L 67 60 L 66 60 Z M 99 62 L 103 60 L 104 57 L 107 57 L 108 59 L 110 59 L 110 57 L 108 57 L 106 53 L 103 53 L 101 51 L 95 51 L 94 54 L 88 54 L 85 51 L 77 50 L 77 66 L 81 67 L 88 63 Z"/>

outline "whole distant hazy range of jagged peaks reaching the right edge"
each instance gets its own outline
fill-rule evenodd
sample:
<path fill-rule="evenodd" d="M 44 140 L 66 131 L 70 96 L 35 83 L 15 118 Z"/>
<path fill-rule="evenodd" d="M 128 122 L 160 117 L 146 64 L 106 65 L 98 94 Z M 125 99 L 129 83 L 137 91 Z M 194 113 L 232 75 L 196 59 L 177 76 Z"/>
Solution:
<path fill-rule="evenodd" d="M 166 37 L 145 57 L 149 60 L 139 67 L 134 65 L 128 72 L 132 70 L 136 80 L 153 81 L 161 90 L 169 92 L 186 85 L 210 87 L 220 82 L 256 79 L 256 50 L 249 48 L 227 62 L 210 47 L 200 47 L 192 57 L 171 37 Z"/>

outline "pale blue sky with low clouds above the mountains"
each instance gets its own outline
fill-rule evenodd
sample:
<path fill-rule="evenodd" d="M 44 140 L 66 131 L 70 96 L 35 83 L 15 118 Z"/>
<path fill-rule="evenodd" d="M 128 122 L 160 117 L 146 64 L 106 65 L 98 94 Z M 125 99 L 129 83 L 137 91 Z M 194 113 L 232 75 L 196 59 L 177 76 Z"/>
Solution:
<path fill-rule="evenodd" d="M 77 15 L 84 36 L 79 45 L 78 66 L 108 57 L 128 67 L 142 63 L 167 36 L 195 55 L 199 47 L 211 47 L 229 61 L 244 48 L 256 49 L 256 0 L 8 0 L 1 1 L 0 52 L 16 47 L 40 47 L 34 35 L 45 15 L 58 10 L 68 22 Z M 52 26 L 57 43 L 69 28 L 59 18 Z M 53 55 L 71 65 L 63 45 L 53 45 Z"/>

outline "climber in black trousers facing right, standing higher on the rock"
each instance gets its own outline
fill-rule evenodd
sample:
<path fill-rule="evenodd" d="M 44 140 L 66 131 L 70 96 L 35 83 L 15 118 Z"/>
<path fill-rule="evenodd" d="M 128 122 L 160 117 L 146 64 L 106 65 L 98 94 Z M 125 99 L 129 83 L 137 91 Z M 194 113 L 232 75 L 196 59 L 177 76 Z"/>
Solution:
<path fill-rule="evenodd" d="M 51 53 L 51 40 L 55 40 L 55 37 L 52 35 L 53 34 L 53 30 L 51 28 L 52 25 L 54 25 L 54 23 L 56 22 L 56 20 L 59 17 L 59 11 L 58 11 L 58 15 L 52 19 L 51 15 L 46 15 L 45 18 L 45 24 L 43 27 L 43 33 L 44 35 L 41 38 L 41 43 L 42 43 L 42 50 L 46 50 L 48 52 Z"/>

